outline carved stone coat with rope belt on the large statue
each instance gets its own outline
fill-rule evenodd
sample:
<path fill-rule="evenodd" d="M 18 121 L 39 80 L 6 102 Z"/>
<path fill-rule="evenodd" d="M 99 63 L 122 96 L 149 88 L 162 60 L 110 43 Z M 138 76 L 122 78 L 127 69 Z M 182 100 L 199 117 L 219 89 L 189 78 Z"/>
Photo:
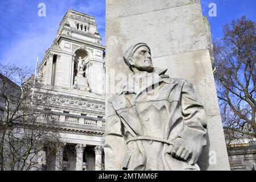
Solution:
<path fill-rule="evenodd" d="M 173 158 L 166 143 L 152 140 L 134 140 L 134 137 L 162 138 L 174 142 L 182 138 L 196 149 L 199 158 L 206 145 L 205 111 L 197 101 L 191 83 L 159 74 L 156 88 L 143 94 L 141 89 L 124 86 L 122 92 L 108 101 L 105 144 L 106 170 L 199 170 L 190 164 Z M 170 151 L 170 150 L 169 150 Z"/>

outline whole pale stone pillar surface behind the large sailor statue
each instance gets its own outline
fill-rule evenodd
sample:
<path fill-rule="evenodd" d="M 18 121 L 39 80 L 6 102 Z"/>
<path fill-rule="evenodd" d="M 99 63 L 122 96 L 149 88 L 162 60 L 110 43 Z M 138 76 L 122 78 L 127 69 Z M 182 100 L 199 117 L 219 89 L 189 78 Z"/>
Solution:
<path fill-rule="evenodd" d="M 131 44 L 146 42 L 151 48 L 154 66 L 168 68 L 167 74 L 171 77 L 191 81 L 208 117 L 212 117 L 207 147 L 216 152 L 217 165 L 207 164 L 209 150 L 206 147 L 205 157 L 200 159 L 201 170 L 229 170 L 221 119 L 216 117 L 220 111 L 200 2 L 107 0 L 106 9 L 107 76 L 110 72 L 130 73 L 123 63 L 123 52 Z M 108 115 L 108 104 L 106 111 Z"/>

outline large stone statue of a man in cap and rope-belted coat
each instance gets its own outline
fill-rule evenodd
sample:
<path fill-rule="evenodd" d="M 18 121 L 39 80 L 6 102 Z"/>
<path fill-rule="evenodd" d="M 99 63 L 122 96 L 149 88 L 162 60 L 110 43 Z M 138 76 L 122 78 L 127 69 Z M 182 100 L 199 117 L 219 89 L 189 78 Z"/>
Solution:
<path fill-rule="evenodd" d="M 207 122 L 193 85 L 152 67 L 146 43 L 131 46 L 123 59 L 133 75 L 108 101 L 105 169 L 200 170 Z"/>

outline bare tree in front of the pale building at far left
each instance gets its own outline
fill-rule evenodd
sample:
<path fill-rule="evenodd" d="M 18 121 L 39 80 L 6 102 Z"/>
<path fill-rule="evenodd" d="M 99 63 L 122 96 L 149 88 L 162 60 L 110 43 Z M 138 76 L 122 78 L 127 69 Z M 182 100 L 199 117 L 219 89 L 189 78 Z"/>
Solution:
<path fill-rule="evenodd" d="M 51 114 L 48 96 L 35 92 L 31 97 L 34 86 L 31 69 L 0 64 L 0 72 L 0 170 L 39 169 L 39 159 L 46 160 L 49 150 L 55 150 L 59 142 L 59 127 Z M 36 81 L 35 88 L 40 86 Z M 46 155 L 40 156 L 41 151 L 47 151 Z"/>

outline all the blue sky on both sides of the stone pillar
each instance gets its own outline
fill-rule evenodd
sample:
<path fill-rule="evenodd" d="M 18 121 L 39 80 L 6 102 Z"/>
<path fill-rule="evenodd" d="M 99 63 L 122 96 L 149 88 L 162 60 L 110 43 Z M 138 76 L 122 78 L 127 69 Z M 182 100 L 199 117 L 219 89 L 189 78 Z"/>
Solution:
<path fill-rule="evenodd" d="M 38 4 L 46 4 L 46 17 L 38 16 Z M 217 16 L 209 17 L 209 3 L 217 5 Z M 221 38 L 222 26 L 241 15 L 255 21 L 255 0 L 201 0 L 213 39 Z M 96 17 L 98 31 L 105 45 L 105 0 L 5 0 L 0 1 L 0 63 L 15 63 L 35 68 L 36 55 L 42 60 L 56 36 L 68 9 Z"/>

